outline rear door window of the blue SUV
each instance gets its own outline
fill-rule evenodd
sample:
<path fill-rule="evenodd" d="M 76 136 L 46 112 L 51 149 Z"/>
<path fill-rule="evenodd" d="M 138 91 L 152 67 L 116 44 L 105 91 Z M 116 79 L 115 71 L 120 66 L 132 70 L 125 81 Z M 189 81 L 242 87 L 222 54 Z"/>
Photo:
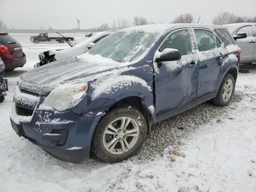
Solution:
<path fill-rule="evenodd" d="M 208 51 L 216 48 L 217 45 L 215 43 L 215 37 L 212 32 L 202 29 L 194 29 L 194 32 L 196 34 L 196 42 L 199 51 Z M 216 38 L 216 40 L 218 39 Z M 218 45 L 220 47 L 220 42 Z"/>

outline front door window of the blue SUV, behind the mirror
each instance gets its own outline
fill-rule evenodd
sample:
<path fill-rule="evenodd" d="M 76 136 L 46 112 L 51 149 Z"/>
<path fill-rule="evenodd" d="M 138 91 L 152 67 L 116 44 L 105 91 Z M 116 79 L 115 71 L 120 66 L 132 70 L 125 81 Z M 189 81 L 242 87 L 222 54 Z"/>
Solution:
<path fill-rule="evenodd" d="M 191 54 L 192 45 L 189 30 L 180 30 L 170 34 L 159 48 L 159 52 L 162 52 L 166 48 L 177 49 L 181 55 Z"/>

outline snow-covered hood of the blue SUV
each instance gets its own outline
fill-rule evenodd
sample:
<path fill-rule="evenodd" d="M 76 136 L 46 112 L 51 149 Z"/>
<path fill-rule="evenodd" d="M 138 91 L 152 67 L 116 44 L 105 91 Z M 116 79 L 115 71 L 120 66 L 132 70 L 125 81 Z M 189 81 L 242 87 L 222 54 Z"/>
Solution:
<path fill-rule="evenodd" d="M 119 63 L 99 55 L 85 53 L 76 58 L 52 62 L 28 71 L 20 76 L 18 85 L 40 95 L 47 95 L 61 84 L 90 82 L 121 72 L 127 65 L 128 63 Z"/>

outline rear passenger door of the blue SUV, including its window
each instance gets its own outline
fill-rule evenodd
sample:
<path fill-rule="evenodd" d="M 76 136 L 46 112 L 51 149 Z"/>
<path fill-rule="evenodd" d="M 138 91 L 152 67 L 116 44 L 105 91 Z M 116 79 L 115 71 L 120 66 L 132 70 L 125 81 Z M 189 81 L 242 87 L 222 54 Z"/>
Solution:
<path fill-rule="evenodd" d="M 194 29 L 199 58 L 197 98 L 216 92 L 217 78 L 227 50 L 222 42 L 207 29 Z"/>

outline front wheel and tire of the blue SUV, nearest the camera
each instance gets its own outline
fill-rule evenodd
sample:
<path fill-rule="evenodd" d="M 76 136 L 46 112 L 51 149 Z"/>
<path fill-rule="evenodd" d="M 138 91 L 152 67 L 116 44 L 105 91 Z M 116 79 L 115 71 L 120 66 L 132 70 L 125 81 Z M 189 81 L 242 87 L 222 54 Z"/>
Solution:
<path fill-rule="evenodd" d="M 109 128 L 110 125 L 115 131 Z M 134 136 L 128 136 L 131 134 Z M 101 118 L 92 136 L 91 149 L 103 162 L 120 162 L 133 156 L 141 148 L 146 134 L 144 116 L 136 108 L 122 104 Z"/>

